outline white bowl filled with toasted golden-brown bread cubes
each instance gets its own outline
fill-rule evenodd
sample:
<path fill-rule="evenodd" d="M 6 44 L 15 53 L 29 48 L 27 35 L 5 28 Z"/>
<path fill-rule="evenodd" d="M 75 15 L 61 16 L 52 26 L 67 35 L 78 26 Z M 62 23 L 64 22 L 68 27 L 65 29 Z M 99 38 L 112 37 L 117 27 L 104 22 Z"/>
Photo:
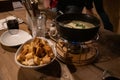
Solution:
<path fill-rule="evenodd" d="M 28 40 L 15 54 L 15 62 L 25 68 L 40 68 L 53 62 L 55 58 L 55 44 L 44 37 Z"/>

